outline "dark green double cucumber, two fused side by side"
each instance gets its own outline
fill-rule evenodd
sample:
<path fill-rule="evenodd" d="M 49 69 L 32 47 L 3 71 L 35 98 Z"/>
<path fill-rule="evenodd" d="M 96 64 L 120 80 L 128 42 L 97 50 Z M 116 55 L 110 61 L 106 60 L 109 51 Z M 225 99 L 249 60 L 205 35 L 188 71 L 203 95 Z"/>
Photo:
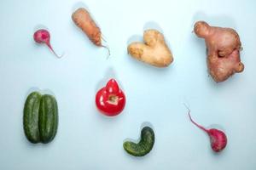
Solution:
<path fill-rule="evenodd" d="M 55 97 L 38 92 L 29 94 L 24 106 L 23 127 L 33 144 L 47 144 L 55 138 L 58 127 L 58 105 Z"/>

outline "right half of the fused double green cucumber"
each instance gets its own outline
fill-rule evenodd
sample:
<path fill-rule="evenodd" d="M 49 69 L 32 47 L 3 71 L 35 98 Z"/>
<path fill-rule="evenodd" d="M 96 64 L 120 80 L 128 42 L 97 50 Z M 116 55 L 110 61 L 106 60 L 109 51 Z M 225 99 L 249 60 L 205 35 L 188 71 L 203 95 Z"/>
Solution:
<path fill-rule="evenodd" d="M 39 113 L 40 139 L 46 144 L 55 138 L 58 127 L 58 106 L 53 96 L 46 94 L 42 97 Z"/>

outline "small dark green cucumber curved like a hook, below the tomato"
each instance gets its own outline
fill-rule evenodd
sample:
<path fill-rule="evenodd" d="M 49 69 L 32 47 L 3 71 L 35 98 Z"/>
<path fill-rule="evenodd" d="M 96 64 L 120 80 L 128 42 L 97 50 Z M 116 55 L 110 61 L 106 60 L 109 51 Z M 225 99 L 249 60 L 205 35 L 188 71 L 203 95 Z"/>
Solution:
<path fill-rule="evenodd" d="M 143 127 L 141 139 L 138 144 L 127 141 L 123 144 L 124 149 L 132 156 L 145 156 L 154 146 L 154 131 L 150 127 Z"/>

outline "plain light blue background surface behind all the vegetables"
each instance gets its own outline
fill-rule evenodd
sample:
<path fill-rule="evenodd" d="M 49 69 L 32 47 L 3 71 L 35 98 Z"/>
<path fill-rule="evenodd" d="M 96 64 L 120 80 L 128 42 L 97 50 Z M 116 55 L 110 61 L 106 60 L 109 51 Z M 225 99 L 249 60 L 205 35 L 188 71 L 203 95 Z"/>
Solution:
<path fill-rule="evenodd" d="M 74 26 L 73 9 L 85 4 L 108 41 L 97 48 Z M 256 169 L 256 1 L 167 0 L 1 0 L 0 3 L 0 169 L 254 170 Z M 233 27 L 244 50 L 245 71 L 215 83 L 207 74 L 204 41 L 191 31 L 195 20 Z M 160 27 L 174 54 L 166 69 L 127 55 L 128 42 L 143 29 Z M 32 39 L 46 26 L 56 59 Z M 95 94 L 109 77 L 125 91 L 125 111 L 108 118 L 96 111 Z M 30 144 L 22 111 L 32 89 L 55 94 L 59 129 L 50 144 Z M 229 139 L 214 154 L 196 122 L 222 128 Z M 122 148 L 137 139 L 143 122 L 154 127 L 154 149 L 135 158 Z"/>

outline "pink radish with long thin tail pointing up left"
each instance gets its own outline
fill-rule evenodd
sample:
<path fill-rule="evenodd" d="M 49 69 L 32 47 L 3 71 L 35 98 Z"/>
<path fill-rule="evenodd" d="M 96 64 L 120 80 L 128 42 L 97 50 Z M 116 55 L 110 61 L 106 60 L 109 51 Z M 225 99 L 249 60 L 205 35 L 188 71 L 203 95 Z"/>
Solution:
<path fill-rule="evenodd" d="M 188 107 L 187 107 L 187 109 L 189 110 Z M 225 133 L 216 128 L 207 129 L 205 127 L 202 127 L 201 125 L 194 122 L 194 120 L 191 118 L 190 110 L 189 110 L 188 114 L 189 114 L 190 121 L 193 122 L 195 124 L 195 126 L 201 128 L 203 131 L 205 131 L 209 135 L 212 150 L 215 152 L 224 150 L 224 148 L 226 147 L 227 142 L 228 142 L 228 139 L 227 139 L 227 136 L 225 135 Z"/>

